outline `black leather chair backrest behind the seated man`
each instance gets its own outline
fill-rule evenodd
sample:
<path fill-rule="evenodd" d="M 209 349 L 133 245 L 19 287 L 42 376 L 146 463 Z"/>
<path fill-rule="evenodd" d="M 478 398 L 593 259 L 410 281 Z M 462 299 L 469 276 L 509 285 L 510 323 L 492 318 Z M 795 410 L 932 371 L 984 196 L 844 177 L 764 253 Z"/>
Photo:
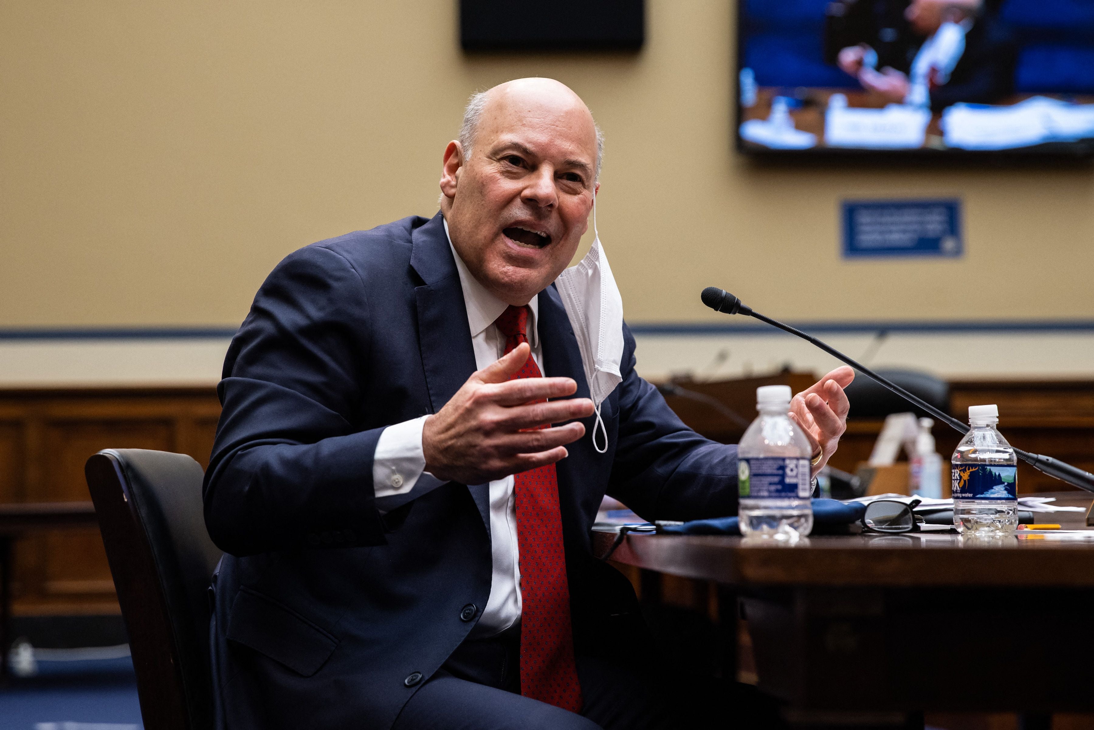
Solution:
<path fill-rule="evenodd" d="M 201 466 L 184 454 L 108 449 L 88 460 L 106 557 L 137 671 L 146 730 L 213 727 Z"/>

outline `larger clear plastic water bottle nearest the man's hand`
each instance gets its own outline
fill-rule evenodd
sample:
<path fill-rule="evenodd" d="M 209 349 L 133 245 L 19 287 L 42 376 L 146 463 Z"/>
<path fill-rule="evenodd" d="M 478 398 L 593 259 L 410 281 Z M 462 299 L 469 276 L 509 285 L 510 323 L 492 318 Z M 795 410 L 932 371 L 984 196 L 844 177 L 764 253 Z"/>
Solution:
<path fill-rule="evenodd" d="M 810 441 L 790 420 L 790 386 L 756 389 L 756 418 L 737 445 L 741 533 L 796 541 L 813 530 Z"/>

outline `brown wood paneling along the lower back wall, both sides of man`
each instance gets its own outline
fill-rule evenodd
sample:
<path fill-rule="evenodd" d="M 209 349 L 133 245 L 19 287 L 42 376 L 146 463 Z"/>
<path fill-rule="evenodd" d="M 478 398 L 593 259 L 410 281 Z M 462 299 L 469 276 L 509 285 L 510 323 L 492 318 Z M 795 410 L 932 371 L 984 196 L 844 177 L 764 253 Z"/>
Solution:
<path fill-rule="evenodd" d="M 814 382 L 783 373 L 718 383 L 680 383 L 755 416 L 757 385 L 785 383 L 794 392 Z M 1016 445 L 1094 471 L 1094 381 L 967 381 L 951 384 L 952 412 L 998 403 L 1003 433 Z M 670 397 L 683 420 L 719 441 L 743 429 L 709 405 Z M 212 387 L 0 390 L 0 501 L 85 500 L 86 459 L 101 449 L 158 449 L 186 453 L 208 466 L 220 404 Z M 852 421 L 833 465 L 853 471 L 870 456 L 882 421 Z M 959 434 L 935 429 L 939 452 L 953 452 Z M 1023 493 L 1066 488 L 1022 466 Z M 15 545 L 18 614 L 116 612 L 117 600 L 95 530 L 42 533 Z"/>

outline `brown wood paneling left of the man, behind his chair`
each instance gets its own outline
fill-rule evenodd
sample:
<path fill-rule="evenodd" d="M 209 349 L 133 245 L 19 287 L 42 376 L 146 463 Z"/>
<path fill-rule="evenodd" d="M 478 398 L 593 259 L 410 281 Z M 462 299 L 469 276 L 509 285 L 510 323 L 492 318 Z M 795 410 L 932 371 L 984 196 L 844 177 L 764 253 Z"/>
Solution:
<path fill-rule="evenodd" d="M 219 415 L 213 389 L 0 391 L 0 501 L 90 499 L 83 465 L 102 449 L 186 453 L 203 467 Z M 14 572 L 16 614 L 118 611 L 97 530 L 20 540 Z"/>

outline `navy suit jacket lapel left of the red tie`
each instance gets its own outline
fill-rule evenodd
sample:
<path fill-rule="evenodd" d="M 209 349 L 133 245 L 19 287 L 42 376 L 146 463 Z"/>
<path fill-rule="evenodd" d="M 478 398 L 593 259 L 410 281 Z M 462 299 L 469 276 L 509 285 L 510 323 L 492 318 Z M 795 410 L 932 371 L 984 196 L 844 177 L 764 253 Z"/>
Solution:
<path fill-rule="evenodd" d="M 424 282 L 415 288 L 418 347 L 430 409 L 437 413 L 476 370 L 467 305 L 441 213 L 414 231 L 410 266 Z M 468 489 L 489 533 L 489 485 L 469 485 Z"/>

